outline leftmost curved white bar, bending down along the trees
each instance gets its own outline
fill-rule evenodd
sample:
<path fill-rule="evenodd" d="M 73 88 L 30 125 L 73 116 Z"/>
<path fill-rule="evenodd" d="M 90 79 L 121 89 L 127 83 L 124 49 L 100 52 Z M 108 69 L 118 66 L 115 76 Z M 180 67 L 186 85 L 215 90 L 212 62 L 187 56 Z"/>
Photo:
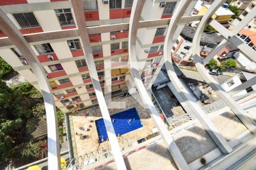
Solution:
<path fill-rule="evenodd" d="M 19 32 L 18 28 L 8 18 L 5 12 L 0 8 L 0 29 L 5 33 L 6 36 L 15 44 L 20 52 L 26 58 L 33 73 L 36 76 L 40 90 L 42 91 L 44 105 L 46 107 L 47 117 L 47 138 L 48 138 L 48 169 L 60 169 L 60 142 L 59 142 L 59 128 L 57 125 L 56 107 L 49 86 L 48 79 L 44 73 L 43 67 L 28 44 L 27 40 L 24 39 L 22 33 Z"/>

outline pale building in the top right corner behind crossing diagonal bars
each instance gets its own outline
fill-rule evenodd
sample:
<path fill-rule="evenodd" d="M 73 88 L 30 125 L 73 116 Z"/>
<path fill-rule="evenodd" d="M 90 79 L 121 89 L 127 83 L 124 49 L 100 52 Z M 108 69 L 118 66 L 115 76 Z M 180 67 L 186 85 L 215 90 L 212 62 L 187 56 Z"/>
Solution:
<path fill-rule="evenodd" d="M 230 26 L 230 28 L 234 28 L 236 27 L 236 25 L 238 23 L 241 22 L 241 20 L 243 18 L 245 18 L 245 16 L 253 9 L 253 7 L 256 5 L 256 1 L 251 1 L 251 3 L 245 8 L 245 10 L 241 13 L 241 15 L 234 19 L 232 22 L 232 25 Z M 256 31 L 256 18 L 252 19 L 247 25 L 246 25 L 246 29 L 249 29 L 250 31 Z"/>

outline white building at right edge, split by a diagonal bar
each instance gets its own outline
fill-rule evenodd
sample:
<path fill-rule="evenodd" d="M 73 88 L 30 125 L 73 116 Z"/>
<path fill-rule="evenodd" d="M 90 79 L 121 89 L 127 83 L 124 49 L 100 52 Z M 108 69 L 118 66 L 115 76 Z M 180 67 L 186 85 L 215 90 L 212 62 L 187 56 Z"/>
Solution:
<path fill-rule="evenodd" d="M 252 78 L 254 78 L 256 75 L 255 74 L 251 74 L 251 73 L 246 73 L 246 72 L 241 72 L 239 74 L 237 74 L 236 76 L 233 76 L 232 78 L 226 80 L 226 82 L 224 82 L 223 84 L 221 84 L 221 87 L 224 88 L 224 90 L 226 92 L 231 91 L 233 88 L 239 86 L 240 84 L 246 82 L 247 80 L 250 80 Z M 246 88 L 245 90 L 242 90 L 241 92 L 238 92 L 237 96 L 239 95 L 245 95 L 248 92 L 254 91 L 256 90 L 256 84 L 254 84 L 251 87 Z"/>

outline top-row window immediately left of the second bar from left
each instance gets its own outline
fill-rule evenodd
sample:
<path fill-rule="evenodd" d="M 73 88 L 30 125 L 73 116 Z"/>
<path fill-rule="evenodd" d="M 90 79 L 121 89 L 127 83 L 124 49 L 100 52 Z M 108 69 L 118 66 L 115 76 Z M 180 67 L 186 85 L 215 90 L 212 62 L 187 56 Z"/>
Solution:
<path fill-rule="evenodd" d="M 71 13 L 71 9 L 55 10 L 55 13 L 59 19 L 60 26 L 75 24 Z"/>

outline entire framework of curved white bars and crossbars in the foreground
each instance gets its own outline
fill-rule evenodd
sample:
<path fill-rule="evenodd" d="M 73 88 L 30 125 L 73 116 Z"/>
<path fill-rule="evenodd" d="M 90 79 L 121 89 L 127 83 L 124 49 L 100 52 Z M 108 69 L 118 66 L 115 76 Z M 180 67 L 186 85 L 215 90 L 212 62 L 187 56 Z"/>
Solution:
<path fill-rule="evenodd" d="M 136 39 L 137 39 L 137 30 L 139 28 L 146 27 L 154 27 L 157 25 L 168 24 L 167 35 L 164 41 L 164 63 L 166 65 L 168 76 L 170 77 L 172 83 L 176 90 L 180 93 L 181 97 L 183 97 L 185 103 L 191 108 L 193 114 L 195 114 L 196 118 L 200 121 L 201 125 L 207 130 L 210 137 L 216 143 L 218 148 L 222 151 L 223 154 L 229 154 L 233 151 L 233 148 L 229 146 L 228 142 L 224 139 L 224 137 L 218 132 L 216 127 L 212 124 L 209 118 L 205 115 L 203 110 L 197 105 L 193 100 L 192 96 L 189 95 L 188 91 L 185 89 L 183 84 L 181 84 L 180 80 L 177 78 L 175 74 L 174 67 L 172 66 L 171 60 L 171 49 L 174 46 L 174 43 L 177 39 L 177 36 L 180 35 L 184 24 L 186 22 L 200 20 L 200 24 L 197 28 L 195 39 L 193 40 L 193 55 L 196 61 L 196 67 L 199 70 L 199 73 L 203 76 L 204 80 L 217 92 L 222 100 L 232 109 L 232 111 L 240 118 L 243 124 L 251 131 L 251 133 L 255 134 L 256 126 L 255 123 L 251 120 L 249 116 L 246 116 L 245 111 L 230 97 L 229 94 L 234 93 L 234 91 L 241 91 L 251 84 L 255 84 L 255 79 L 251 79 L 247 83 L 243 83 L 233 90 L 233 92 L 226 93 L 205 70 L 204 65 L 213 58 L 218 50 L 222 49 L 228 41 L 237 45 L 237 47 L 245 53 L 250 59 L 256 61 L 256 52 L 247 46 L 242 40 L 236 37 L 237 33 L 245 27 L 247 23 L 250 22 L 251 19 L 255 17 L 256 7 L 247 14 L 245 19 L 243 19 L 239 25 L 232 31 L 229 32 L 226 28 L 224 28 L 220 23 L 218 23 L 214 19 L 210 19 L 210 17 L 214 14 L 214 11 L 220 7 L 220 5 L 225 0 L 214 1 L 212 6 L 208 9 L 204 16 L 188 16 L 191 12 L 193 6 L 195 6 L 196 1 L 185 1 L 180 0 L 176 5 L 176 9 L 174 11 L 174 15 L 172 15 L 171 19 L 159 19 L 159 20 L 150 20 L 150 21 L 139 21 L 141 17 L 141 12 L 144 6 L 145 0 L 134 0 L 133 8 L 131 11 L 130 24 L 122 23 L 122 24 L 113 24 L 113 25 L 100 25 L 96 27 L 86 27 L 85 18 L 82 9 L 82 1 L 81 0 L 72 0 L 72 6 L 75 13 L 75 18 L 77 22 L 78 29 L 72 30 L 63 30 L 56 32 L 43 32 L 38 33 L 37 35 L 25 35 L 23 36 L 18 28 L 11 22 L 11 20 L 6 16 L 5 12 L 3 12 L 0 8 L 0 29 L 7 35 L 7 38 L 0 40 L 0 48 L 10 47 L 15 45 L 22 54 L 24 54 L 27 62 L 29 63 L 32 71 L 34 72 L 40 90 L 42 91 L 44 104 L 46 106 L 46 114 L 47 114 L 47 129 L 48 129 L 48 169 L 60 169 L 60 148 L 59 148 L 59 133 L 57 128 L 57 118 L 56 118 L 56 108 L 53 100 L 51 88 L 48 83 L 48 79 L 44 74 L 42 65 L 35 53 L 31 49 L 30 42 L 38 42 L 38 41 L 52 41 L 57 37 L 65 38 L 65 37 L 77 37 L 80 36 L 82 40 L 82 45 L 84 46 L 85 59 L 88 63 L 89 72 L 92 77 L 93 86 L 96 91 L 96 96 L 98 99 L 98 104 L 100 106 L 100 110 L 102 113 L 102 117 L 104 118 L 104 123 L 106 126 L 106 130 L 109 136 L 110 146 L 112 147 L 112 152 L 115 160 L 115 164 L 118 169 L 126 169 L 125 162 L 122 157 L 122 153 L 119 149 L 117 138 L 115 137 L 114 128 L 112 125 L 112 121 L 110 119 L 110 115 L 108 112 L 108 107 L 106 105 L 106 101 L 104 99 L 104 95 L 101 90 L 100 82 L 97 75 L 97 70 L 94 65 L 94 59 L 92 56 L 92 48 L 90 46 L 89 34 L 92 33 L 103 33 L 110 31 L 120 31 L 123 29 L 129 28 L 129 63 L 131 69 L 131 76 L 134 79 L 135 85 L 141 95 L 141 98 L 144 104 L 147 105 L 147 108 L 151 112 L 151 117 L 155 121 L 156 127 L 160 131 L 162 138 L 164 139 L 168 150 L 172 158 L 174 159 L 177 167 L 179 169 L 189 169 L 187 162 L 181 155 L 179 148 L 177 147 L 174 139 L 170 135 L 166 126 L 164 125 L 162 119 L 159 117 L 154 104 L 152 103 L 150 96 L 148 96 L 146 88 L 144 87 L 141 75 L 138 71 L 137 66 L 137 56 L 135 51 Z M 187 11 L 186 11 L 187 10 Z M 185 16 L 183 16 L 185 15 Z M 210 20 L 210 22 L 209 22 Z M 203 29 L 207 23 L 210 23 L 214 29 L 216 29 L 222 36 L 225 37 L 225 40 L 221 41 L 221 43 L 214 49 L 207 58 L 202 59 L 200 57 L 200 37 Z"/>

